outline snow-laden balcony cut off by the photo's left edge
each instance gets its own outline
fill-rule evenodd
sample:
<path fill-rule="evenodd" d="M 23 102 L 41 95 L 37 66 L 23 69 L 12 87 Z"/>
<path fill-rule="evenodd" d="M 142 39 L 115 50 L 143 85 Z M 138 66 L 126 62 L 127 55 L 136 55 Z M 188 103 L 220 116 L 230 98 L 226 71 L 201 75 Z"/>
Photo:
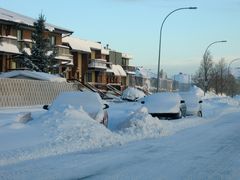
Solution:
<path fill-rule="evenodd" d="M 14 36 L 0 36 L 0 52 L 7 54 L 21 54 L 18 49 L 17 38 Z"/>

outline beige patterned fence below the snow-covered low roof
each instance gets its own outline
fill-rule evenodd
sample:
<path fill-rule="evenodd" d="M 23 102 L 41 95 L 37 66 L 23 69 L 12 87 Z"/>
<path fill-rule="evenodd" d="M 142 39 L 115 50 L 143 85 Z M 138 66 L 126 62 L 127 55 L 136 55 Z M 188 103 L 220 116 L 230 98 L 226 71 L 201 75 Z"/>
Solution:
<path fill-rule="evenodd" d="M 75 83 L 0 78 L 0 108 L 50 104 L 60 92 L 77 90 Z"/>

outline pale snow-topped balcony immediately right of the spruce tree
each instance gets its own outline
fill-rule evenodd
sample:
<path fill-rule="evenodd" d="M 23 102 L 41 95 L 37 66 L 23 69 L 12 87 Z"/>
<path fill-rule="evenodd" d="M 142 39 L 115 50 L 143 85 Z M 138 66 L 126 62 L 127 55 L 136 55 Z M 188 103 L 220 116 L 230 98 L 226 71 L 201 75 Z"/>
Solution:
<path fill-rule="evenodd" d="M 73 65 L 73 55 L 70 54 L 68 46 L 56 45 L 55 51 L 55 59 L 60 60 L 62 65 Z"/>

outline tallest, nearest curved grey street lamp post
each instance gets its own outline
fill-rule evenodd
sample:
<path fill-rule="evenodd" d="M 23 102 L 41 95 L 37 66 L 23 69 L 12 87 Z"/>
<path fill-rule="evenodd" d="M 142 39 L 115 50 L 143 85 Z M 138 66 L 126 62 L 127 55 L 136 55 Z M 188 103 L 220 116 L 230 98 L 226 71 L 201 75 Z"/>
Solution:
<path fill-rule="evenodd" d="M 197 9 L 197 7 L 183 7 L 183 8 L 178 8 L 173 11 L 171 11 L 163 20 L 161 28 L 160 28 L 160 36 L 159 36 L 159 51 L 158 51 L 158 71 L 157 71 L 157 92 L 159 91 L 159 79 L 160 79 L 160 59 L 161 59 L 161 41 L 162 41 L 162 29 L 163 29 L 163 24 L 167 20 L 167 18 L 173 14 L 176 11 L 184 10 L 184 9 Z"/>

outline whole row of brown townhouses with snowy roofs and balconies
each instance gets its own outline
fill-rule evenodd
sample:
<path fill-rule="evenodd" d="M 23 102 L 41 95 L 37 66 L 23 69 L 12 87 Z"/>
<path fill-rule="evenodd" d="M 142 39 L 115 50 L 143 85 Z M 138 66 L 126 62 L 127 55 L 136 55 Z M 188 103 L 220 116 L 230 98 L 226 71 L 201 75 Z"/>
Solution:
<path fill-rule="evenodd" d="M 18 57 L 23 51 L 31 53 L 35 21 L 0 8 L 0 73 L 24 68 Z M 118 90 L 135 86 L 131 55 L 104 47 L 101 42 L 73 37 L 73 31 L 65 28 L 48 23 L 45 27 L 45 36 L 56 50 L 56 73 L 103 90 L 107 85 Z"/>

